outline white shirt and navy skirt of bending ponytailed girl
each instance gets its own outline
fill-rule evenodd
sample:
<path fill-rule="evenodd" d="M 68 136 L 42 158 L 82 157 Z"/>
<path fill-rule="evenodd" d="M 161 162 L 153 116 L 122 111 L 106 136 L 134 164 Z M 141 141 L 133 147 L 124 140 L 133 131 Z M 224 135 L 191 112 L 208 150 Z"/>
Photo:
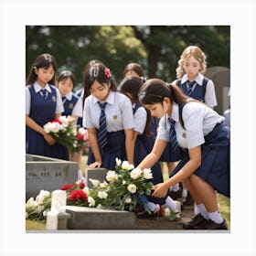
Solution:
<path fill-rule="evenodd" d="M 160 120 L 159 139 L 168 139 L 168 117 L 165 114 Z M 203 103 L 189 101 L 183 105 L 174 103 L 171 118 L 176 122 L 176 140 L 183 151 L 181 161 L 170 176 L 174 176 L 189 161 L 188 150 L 201 145 L 201 165 L 194 175 L 229 197 L 230 132 L 223 123 L 224 117 Z"/>

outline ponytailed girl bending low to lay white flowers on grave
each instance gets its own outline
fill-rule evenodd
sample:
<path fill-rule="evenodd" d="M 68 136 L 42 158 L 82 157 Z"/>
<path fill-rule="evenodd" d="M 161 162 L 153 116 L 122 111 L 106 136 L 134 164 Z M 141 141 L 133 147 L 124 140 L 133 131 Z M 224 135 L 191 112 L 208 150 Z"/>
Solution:
<path fill-rule="evenodd" d="M 224 117 L 206 104 L 188 98 L 176 85 L 163 80 L 147 80 L 139 99 L 151 114 L 161 118 L 152 152 L 139 168 L 155 164 L 166 142 L 176 137 L 184 149 L 182 159 L 170 178 L 155 186 L 154 197 L 165 197 L 169 187 L 183 181 L 200 213 L 184 229 L 228 229 L 219 212 L 217 193 L 229 197 L 229 128 Z M 169 133 L 175 125 L 176 133 Z M 174 140 L 175 142 L 175 140 Z"/>

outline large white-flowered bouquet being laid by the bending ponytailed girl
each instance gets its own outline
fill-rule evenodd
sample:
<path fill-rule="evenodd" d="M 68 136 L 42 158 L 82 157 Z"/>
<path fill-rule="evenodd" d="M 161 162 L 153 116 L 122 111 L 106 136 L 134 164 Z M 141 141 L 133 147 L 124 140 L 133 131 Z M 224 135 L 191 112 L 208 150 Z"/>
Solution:
<path fill-rule="evenodd" d="M 115 171 L 108 171 L 106 181 L 91 179 L 93 187 L 84 187 L 89 207 L 116 208 L 133 211 L 141 196 L 151 194 L 151 169 L 134 168 L 127 161 L 116 159 Z"/>

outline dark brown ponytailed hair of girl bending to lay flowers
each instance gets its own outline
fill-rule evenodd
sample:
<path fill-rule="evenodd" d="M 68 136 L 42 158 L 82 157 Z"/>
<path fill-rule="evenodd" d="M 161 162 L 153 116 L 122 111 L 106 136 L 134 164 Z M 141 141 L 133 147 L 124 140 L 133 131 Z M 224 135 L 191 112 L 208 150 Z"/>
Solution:
<path fill-rule="evenodd" d="M 165 97 L 169 98 L 171 103 L 177 104 L 188 99 L 176 84 L 166 83 L 159 79 L 146 80 L 139 91 L 139 100 L 146 105 L 163 103 Z"/>

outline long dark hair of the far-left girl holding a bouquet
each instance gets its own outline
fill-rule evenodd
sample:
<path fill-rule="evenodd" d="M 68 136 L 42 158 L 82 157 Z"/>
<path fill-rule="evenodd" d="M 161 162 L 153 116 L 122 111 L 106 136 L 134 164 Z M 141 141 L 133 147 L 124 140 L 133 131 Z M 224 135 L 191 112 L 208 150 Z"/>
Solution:
<path fill-rule="evenodd" d="M 32 65 L 32 68 L 30 69 L 29 75 L 27 77 L 26 85 L 33 84 L 37 80 L 37 74 L 35 69 L 48 69 L 49 66 L 52 65 L 54 69 L 54 76 L 51 80 L 48 81 L 50 84 L 55 84 L 55 76 L 56 76 L 56 70 L 57 70 L 57 63 L 56 60 L 48 53 L 41 54 L 37 57 L 34 64 Z"/>

